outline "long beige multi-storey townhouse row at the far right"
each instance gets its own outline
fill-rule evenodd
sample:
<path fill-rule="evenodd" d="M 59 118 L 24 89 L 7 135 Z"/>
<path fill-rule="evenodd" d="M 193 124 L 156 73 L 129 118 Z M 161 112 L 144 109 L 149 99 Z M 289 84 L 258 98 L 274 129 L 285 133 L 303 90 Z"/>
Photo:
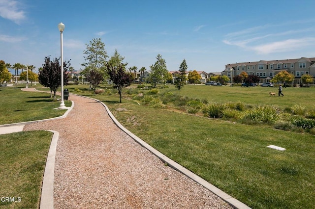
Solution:
<path fill-rule="evenodd" d="M 287 71 L 295 76 L 293 83 L 301 83 L 304 74 L 315 77 L 315 57 L 301 57 L 297 59 L 260 60 L 225 65 L 222 75 L 229 78 L 240 75 L 245 71 L 248 75 L 260 77 L 260 82 L 269 82 L 277 73 Z"/>

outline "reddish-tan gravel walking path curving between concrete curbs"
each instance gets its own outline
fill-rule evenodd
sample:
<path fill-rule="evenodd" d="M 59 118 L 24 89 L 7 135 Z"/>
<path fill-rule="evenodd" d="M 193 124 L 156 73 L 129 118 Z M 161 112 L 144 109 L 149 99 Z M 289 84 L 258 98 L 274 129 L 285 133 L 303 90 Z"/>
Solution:
<path fill-rule="evenodd" d="M 60 133 L 54 208 L 231 208 L 121 131 L 102 104 L 75 95 L 69 99 L 74 107 L 66 118 L 24 127 Z"/>

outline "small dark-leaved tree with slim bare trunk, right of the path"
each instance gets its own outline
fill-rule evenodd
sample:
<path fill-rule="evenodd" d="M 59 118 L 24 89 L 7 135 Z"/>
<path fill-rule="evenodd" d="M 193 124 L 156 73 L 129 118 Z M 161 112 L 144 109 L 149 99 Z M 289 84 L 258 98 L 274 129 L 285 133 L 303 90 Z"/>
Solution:
<path fill-rule="evenodd" d="M 109 78 L 114 83 L 114 88 L 118 89 L 119 93 L 119 103 L 122 103 L 122 91 L 124 87 L 127 87 L 132 82 L 132 77 L 126 70 L 123 69 L 122 66 L 118 66 L 118 68 L 107 65 L 107 74 Z"/>

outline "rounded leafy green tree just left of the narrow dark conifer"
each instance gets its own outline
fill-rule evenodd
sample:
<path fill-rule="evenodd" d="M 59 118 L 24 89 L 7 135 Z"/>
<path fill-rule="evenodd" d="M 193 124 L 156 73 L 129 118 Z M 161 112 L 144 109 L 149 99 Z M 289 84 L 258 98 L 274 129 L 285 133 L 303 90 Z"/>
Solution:
<path fill-rule="evenodd" d="M 150 82 L 151 84 L 156 87 L 158 83 L 164 81 L 165 75 L 168 73 L 166 68 L 166 62 L 165 59 L 162 58 L 162 55 L 158 54 L 156 57 L 157 61 L 154 63 L 154 65 L 151 65 L 151 74 L 150 74 Z"/>

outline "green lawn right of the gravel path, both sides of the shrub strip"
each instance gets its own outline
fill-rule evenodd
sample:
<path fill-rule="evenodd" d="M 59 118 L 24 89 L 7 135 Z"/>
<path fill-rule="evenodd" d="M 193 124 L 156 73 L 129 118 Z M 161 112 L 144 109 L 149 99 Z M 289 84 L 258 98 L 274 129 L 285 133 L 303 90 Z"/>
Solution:
<path fill-rule="evenodd" d="M 252 208 L 313 208 L 315 202 L 315 137 L 309 133 L 275 130 L 265 124 L 245 125 L 190 115 L 174 108 L 153 108 L 123 100 L 116 94 L 93 96 L 111 109 L 130 131 L 164 155 Z M 158 89 L 209 102 L 295 104 L 314 108 L 315 88 L 284 88 L 284 97 L 270 97 L 277 87 L 187 85 Z M 125 92 L 127 90 L 125 89 Z M 128 90 L 130 91 L 130 90 Z M 133 94 L 146 90 L 133 89 Z M 125 94 L 125 96 L 128 96 Z M 130 96 L 128 96 L 130 98 Z M 122 111 L 123 110 L 123 111 Z M 285 151 L 267 148 L 284 147 Z"/>

